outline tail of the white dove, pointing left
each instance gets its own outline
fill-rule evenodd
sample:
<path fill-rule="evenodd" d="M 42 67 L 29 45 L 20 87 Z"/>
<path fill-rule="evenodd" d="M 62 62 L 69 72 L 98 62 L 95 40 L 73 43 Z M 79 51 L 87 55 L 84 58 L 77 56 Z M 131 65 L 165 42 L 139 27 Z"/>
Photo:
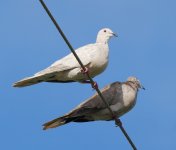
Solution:
<path fill-rule="evenodd" d="M 13 84 L 13 87 L 24 87 L 37 84 L 44 81 L 44 76 L 32 76 L 24 78 Z"/>

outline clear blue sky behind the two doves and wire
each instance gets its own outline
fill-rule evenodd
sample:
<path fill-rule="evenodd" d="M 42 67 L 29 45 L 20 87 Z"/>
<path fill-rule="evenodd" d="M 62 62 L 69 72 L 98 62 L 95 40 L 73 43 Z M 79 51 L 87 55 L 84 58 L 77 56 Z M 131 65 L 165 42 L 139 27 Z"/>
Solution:
<path fill-rule="evenodd" d="M 74 48 L 92 43 L 102 27 L 110 41 L 110 63 L 95 78 L 99 87 L 137 76 L 136 107 L 124 127 L 140 150 L 176 149 L 176 1 L 46 1 Z M 43 131 L 42 124 L 91 96 L 89 85 L 12 83 L 70 53 L 39 1 L 1 0 L 0 149 L 125 149 L 131 147 L 114 122 L 71 123 Z"/>

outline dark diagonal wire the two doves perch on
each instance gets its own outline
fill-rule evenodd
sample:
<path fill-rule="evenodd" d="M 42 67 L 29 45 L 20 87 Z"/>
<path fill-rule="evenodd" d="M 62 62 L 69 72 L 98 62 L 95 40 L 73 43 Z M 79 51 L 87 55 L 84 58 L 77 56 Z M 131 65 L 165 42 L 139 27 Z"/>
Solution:
<path fill-rule="evenodd" d="M 68 41 L 68 39 L 66 38 L 64 32 L 62 31 L 62 29 L 60 28 L 60 26 L 58 25 L 58 23 L 56 22 L 56 20 L 54 19 L 54 17 L 52 16 L 51 12 L 49 11 L 49 9 L 47 8 L 46 4 L 44 3 L 43 0 L 39 0 L 40 3 L 42 4 L 43 8 L 45 9 L 45 11 L 47 12 L 48 16 L 50 17 L 50 19 L 52 20 L 52 22 L 54 23 L 54 25 L 56 26 L 57 30 L 59 31 L 59 33 L 61 34 L 62 38 L 64 39 L 64 41 L 66 42 L 66 44 L 68 45 L 68 47 L 70 48 L 71 52 L 73 53 L 73 55 L 75 56 L 75 58 L 77 59 L 78 63 L 80 64 L 81 68 L 85 71 L 86 68 L 83 65 L 83 63 L 81 62 L 80 58 L 78 57 L 78 55 L 76 54 L 75 50 L 73 49 L 72 45 L 70 44 L 70 42 Z M 90 83 L 92 86 L 94 86 L 94 80 L 90 77 L 89 73 L 86 72 L 85 73 L 88 77 L 88 79 L 90 80 Z M 108 108 L 109 112 L 111 113 L 113 119 L 115 120 L 115 124 L 117 126 L 120 127 L 121 131 L 123 132 L 123 134 L 125 135 L 126 139 L 128 140 L 128 142 L 130 143 L 130 145 L 132 146 L 132 148 L 134 150 L 137 150 L 136 146 L 134 145 L 134 143 L 132 142 L 131 138 L 128 136 L 127 132 L 125 131 L 125 129 L 122 126 L 122 122 L 119 118 L 116 118 L 114 115 L 114 112 L 111 110 L 111 108 L 109 107 L 109 104 L 107 103 L 107 101 L 105 100 L 105 98 L 103 97 L 102 93 L 100 92 L 98 86 L 95 86 L 94 89 L 97 91 L 98 95 L 100 96 L 100 98 L 102 99 L 102 101 L 104 102 L 104 104 L 106 105 L 106 107 Z"/>

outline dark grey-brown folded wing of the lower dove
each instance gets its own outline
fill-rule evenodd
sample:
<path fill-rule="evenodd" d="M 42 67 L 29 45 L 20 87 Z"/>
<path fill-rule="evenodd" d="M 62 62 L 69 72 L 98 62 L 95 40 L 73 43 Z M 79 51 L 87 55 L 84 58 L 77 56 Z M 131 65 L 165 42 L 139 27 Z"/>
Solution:
<path fill-rule="evenodd" d="M 101 93 L 109 106 L 117 103 L 117 100 L 121 98 L 121 83 L 114 82 L 101 90 Z M 97 112 L 106 108 L 106 105 L 100 98 L 98 94 L 93 95 L 91 98 L 86 100 L 85 102 L 78 105 L 74 110 L 69 113 L 69 116 L 82 116 L 87 113 Z"/>

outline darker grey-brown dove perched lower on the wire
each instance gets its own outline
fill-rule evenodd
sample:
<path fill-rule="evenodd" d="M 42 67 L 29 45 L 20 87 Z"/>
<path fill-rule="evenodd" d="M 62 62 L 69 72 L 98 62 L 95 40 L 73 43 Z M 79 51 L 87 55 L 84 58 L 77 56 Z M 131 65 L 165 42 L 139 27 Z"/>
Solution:
<path fill-rule="evenodd" d="M 117 81 L 105 86 L 101 93 L 115 117 L 119 118 L 135 106 L 140 88 L 145 89 L 136 77 L 131 76 L 128 77 L 126 82 Z M 114 116 L 99 95 L 94 94 L 64 116 L 45 123 L 43 130 L 59 127 L 70 122 L 110 121 L 113 119 Z"/>

